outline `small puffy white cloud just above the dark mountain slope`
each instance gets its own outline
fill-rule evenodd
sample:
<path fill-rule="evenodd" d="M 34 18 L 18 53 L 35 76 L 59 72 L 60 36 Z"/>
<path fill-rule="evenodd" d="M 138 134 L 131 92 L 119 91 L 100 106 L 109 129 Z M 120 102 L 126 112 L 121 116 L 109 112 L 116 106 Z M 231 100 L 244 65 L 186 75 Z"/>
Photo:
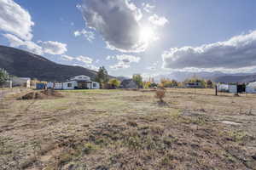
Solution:
<path fill-rule="evenodd" d="M 38 41 L 46 54 L 65 54 L 67 52 L 67 44 L 61 42 L 42 42 Z"/>

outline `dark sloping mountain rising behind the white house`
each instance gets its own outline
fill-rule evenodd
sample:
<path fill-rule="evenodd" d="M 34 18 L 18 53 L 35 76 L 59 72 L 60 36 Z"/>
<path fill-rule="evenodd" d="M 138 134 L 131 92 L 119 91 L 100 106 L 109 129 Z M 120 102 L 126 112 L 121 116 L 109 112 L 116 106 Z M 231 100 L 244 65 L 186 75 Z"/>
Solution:
<path fill-rule="evenodd" d="M 61 82 L 77 75 L 86 75 L 92 79 L 96 77 L 96 71 L 80 66 L 60 65 L 42 56 L 5 46 L 0 46 L 0 68 L 16 77 L 31 77 L 42 81 Z"/>

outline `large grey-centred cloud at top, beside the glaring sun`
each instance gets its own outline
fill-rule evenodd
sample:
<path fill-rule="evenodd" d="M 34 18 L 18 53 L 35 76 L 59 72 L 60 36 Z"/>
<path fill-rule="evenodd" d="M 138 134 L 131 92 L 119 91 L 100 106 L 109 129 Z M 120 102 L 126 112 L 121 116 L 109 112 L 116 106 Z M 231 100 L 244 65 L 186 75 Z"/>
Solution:
<path fill-rule="evenodd" d="M 139 21 L 143 14 L 130 0 L 84 0 L 78 8 L 86 26 L 102 35 L 107 48 L 125 53 L 143 52 L 148 48 L 148 42 L 140 36 Z"/>

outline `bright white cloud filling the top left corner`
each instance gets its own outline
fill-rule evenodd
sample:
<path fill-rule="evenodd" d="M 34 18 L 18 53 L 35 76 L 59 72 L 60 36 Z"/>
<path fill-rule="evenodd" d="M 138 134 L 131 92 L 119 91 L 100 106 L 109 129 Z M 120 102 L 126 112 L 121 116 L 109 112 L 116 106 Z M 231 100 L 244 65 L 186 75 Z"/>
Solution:
<path fill-rule="evenodd" d="M 25 41 L 32 39 L 31 15 L 13 0 L 0 0 L 0 30 L 14 34 Z"/>

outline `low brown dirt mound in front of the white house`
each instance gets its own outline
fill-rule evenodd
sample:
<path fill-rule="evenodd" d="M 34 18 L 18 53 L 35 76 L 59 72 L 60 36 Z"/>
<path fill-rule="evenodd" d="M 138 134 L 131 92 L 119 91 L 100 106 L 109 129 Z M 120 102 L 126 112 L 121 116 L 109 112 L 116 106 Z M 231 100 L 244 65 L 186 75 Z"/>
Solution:
<path fill-rule="evenodd" d="M 50 99 L 61 98 L 63 95 L 53 89 L 43 90 L 39 92 L 30 92 L 21 96 L 19 99 Z"/>

